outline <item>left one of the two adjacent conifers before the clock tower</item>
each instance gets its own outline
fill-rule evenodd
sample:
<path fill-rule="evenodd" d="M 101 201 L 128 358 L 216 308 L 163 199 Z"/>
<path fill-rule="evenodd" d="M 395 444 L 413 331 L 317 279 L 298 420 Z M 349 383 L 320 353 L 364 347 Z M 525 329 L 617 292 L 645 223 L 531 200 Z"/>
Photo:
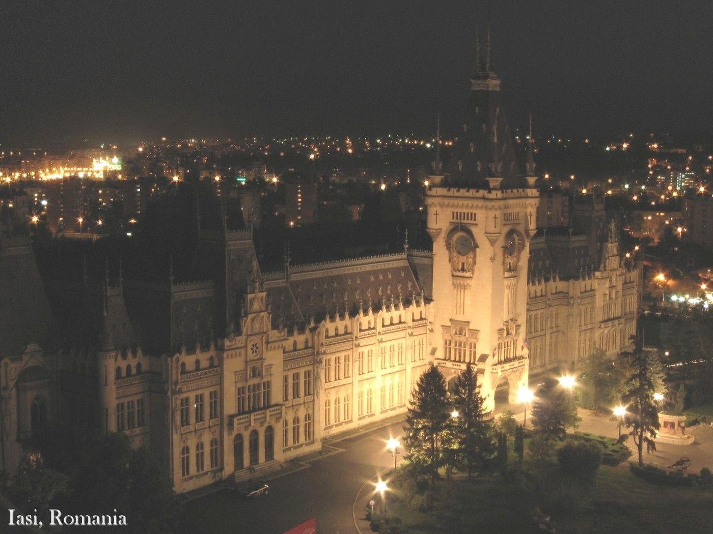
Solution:
<path fill-rule="evenodd" d="M 411 407 L 406 415 L 404 441 L 406 459 L 416 473 L 436 482 L 438 468 L 443 466 L 442 440 L 451 417 L 446 397 L 446 379 L 438 367 L 431 365 L 416 382 Z"/>

